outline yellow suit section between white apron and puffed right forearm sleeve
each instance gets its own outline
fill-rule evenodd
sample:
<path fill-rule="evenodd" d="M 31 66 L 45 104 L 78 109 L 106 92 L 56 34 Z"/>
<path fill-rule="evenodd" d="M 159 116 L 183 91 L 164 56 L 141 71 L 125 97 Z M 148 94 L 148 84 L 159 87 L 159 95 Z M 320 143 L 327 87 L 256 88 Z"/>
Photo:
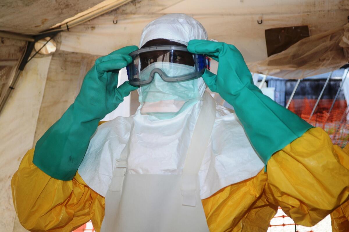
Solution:
<path fill-rule="evenodd" d="M 277 206 L 267 202 L 263 194 L 267 174 L 229 185 L 202 200 L 211 232 L 267 231 Z"/>

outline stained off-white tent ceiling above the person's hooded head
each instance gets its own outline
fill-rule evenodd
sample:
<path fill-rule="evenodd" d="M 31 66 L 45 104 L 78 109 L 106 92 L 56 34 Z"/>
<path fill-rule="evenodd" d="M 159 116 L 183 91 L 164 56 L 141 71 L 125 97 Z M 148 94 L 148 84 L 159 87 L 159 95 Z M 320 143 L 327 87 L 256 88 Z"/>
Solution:
<path fill-rule="evenodd" d="M 38 33 L 68 22 L 64 19 L 81 11 L 87 10 L 80 13 L 83 15 L 113 2 L 121 5 L 128 1 L 5 0 L 0 3 L 0 30 Z M 346 24 L 348 9 L 346 0 L 133 0 L 65 31 L 61 49 L 104 55 L 110 49 L 138 45 L 141 30 L 149 21 L 180 12 L 198 19 L 210 38 L 236 45 L 246 62 L 255 62 L 267 58 L 266 29 L 308 25 L 310 34 L 315 35 Z M 115 25 L 112 24 L 114 19 L 118 20 Z M 258 24 L 258 19 L 263 23 Z M 113 40 L 108 41 L 105 36 Z M 91 46 L 85 43 L 87 41 Z"/>

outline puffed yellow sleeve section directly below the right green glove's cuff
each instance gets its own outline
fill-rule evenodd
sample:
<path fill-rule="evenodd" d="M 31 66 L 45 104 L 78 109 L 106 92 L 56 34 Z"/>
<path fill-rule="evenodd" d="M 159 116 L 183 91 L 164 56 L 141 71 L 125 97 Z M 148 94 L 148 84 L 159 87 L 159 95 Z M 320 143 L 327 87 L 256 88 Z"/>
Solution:
<path fill-rule="evenodd" d="M 349 198 L 348 153 L 312 128 L 268 162 L 265 194 L 297 224 L 313 226 Z"/>

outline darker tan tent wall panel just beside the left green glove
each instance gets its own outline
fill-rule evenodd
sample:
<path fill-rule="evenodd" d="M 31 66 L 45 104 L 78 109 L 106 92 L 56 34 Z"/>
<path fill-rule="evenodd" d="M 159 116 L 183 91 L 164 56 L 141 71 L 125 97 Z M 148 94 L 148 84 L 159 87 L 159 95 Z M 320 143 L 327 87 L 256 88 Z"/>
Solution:
<path fill-rule="evenodd" d="M 83 78 L 96 58 L 90 54 L 66 51 L 52 55 L 32 147 L 74 102 Z"/>

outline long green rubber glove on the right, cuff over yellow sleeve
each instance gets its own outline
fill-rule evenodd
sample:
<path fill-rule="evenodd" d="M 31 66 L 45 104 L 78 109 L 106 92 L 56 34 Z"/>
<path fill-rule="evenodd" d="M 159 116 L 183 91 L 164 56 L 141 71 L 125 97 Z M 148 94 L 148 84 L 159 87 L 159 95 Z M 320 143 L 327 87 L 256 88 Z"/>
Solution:
<path fill-rule="evenodd" d="M 202 78 L 211 91 L 220 94 L 234 107 L 252 146 L 265 165 L 273 153 L 312 127 L 262 94 L 253 84 L 251 72 L 235 46 L 224 42 L 191 40 L 188 50 L 218 61 L 217 75 L 206 70 Z"/>

